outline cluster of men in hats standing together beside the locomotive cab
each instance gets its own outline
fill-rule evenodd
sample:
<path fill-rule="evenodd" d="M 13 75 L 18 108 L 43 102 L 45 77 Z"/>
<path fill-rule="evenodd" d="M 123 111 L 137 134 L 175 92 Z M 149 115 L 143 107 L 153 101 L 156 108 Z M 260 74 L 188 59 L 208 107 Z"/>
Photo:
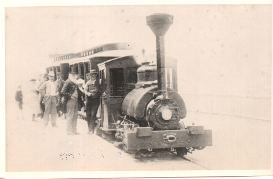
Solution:
<path fill-rule="evenodd" d="M 57 127 L 57 114 L 61 117 L 60 110 L 66 114 L 67 135 L 79 135 L 76 130 L 77 111 L 80 110 L 84 103 L 82 99 L 86 99 L 86 119 L 88 124 L 88 134 L 94 133 L 97 109 L 100 104 L 101 88 L 100 81 L 97 79 L 97 72 L 91 70 L 88 74 L 90 80 L 83 87 L 84 80 L 76 79 L 75 72 L 69 72 L 68 79 L 64 81 L 61 73 L 57 72 L 57 80 L 54 82 L 54 72 L 48 73 L 49 80 L 44 81 L 38 88 L 38 92 L 43 97 L 42 104 L 45 105 L 44 110 L 44 127 L 47 127 L 49 115 L 51 116 L 52 127 Z M 42 117 L 42 116 L 41 116 Z"/>

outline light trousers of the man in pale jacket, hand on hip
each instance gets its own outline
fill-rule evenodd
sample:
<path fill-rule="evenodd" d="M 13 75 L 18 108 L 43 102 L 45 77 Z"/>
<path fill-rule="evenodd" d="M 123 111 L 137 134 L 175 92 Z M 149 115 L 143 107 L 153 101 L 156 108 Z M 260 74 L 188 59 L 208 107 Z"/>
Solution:
<path fill-rule="evenodd" d="M 51 124 L 56 124 L 57 111 L 56 111 L 57 99 L 55 96 L 49 96 L 48 100 L 45 102 L 46 110 L 44 114 L 44 124 L 48 124 L 49 115 L 51 116 Z"/>

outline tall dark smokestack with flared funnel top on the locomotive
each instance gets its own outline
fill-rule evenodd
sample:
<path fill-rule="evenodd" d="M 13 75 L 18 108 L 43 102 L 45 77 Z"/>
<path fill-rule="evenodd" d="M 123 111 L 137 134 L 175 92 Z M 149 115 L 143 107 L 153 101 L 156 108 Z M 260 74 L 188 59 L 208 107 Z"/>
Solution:
<path fill-rule="evenodd" d="M 163 99 L 168 98 L 166 77 L 165 77 L 165 47 L 164 36 L 173 22 L 173 15 L 165 13 L 155 13 L 149 15 L 147 25 L 157 38 L 157 70 L 158 70 L 158 95 L 163 95 Z"/>

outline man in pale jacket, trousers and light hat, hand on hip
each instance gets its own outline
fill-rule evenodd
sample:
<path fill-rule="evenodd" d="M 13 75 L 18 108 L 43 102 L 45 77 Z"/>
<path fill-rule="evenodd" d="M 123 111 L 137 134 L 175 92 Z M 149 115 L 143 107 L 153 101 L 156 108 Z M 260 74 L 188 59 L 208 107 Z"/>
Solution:
<path fill-rule="evenodd" d="M 53 78 L 55 74 L 53 71 L 50 71 L 48 74 L 48 81 L 45 81 L 40 87 L 39 92 L 44 96 L 43 104 L 45 104 L 45 113 L 44 113 L 44 127 L 47 126 L 49 115 L 51 116 L 51 125 L 52 127 L 56 126 L 56 118 L 57 118 L 57 111 L 56 111 L 56 102 L 57 98 L 57 88 L 54 84 Z"/>

